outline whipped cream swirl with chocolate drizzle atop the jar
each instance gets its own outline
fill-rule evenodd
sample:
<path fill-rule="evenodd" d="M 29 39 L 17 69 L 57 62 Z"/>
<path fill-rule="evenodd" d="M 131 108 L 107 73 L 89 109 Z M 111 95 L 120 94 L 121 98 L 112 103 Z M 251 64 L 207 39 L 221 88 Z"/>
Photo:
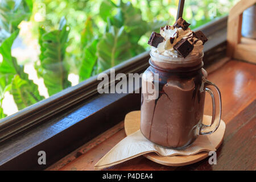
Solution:
<path fill-rule="evenodd" d="M 152 53 L 158 53 L 160 55 L 169 57 L 182 57 L 175 49 L 174 45 L 181 39 L 188 39 L 189 43 L 193 44 L 194 48 L 188 56 L 199 55 L 203 51 L 203 42 L 200 39 L 195 38 L 192 34 L 192 30 L 188 27 L 186 30 L 183 28 L 177 28 L 174 26 L 165 26 L 160 28 L 160 35 L 164 40 L 158 44 L 158 47 L 151 46 Z"/>

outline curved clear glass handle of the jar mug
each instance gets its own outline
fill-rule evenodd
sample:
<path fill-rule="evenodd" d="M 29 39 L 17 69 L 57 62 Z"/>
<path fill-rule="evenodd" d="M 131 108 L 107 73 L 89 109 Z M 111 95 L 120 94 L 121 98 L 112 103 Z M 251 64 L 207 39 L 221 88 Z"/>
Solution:
<path fill-rule="evenodd" d="M 212 122 L 210 125 L 201 124 L 200 135 L 212 134 L 218 129 L 221 121 L 221 93 L 218 87 L 208 80 L 205 82 L 205 91 L 212 97 Z"/>

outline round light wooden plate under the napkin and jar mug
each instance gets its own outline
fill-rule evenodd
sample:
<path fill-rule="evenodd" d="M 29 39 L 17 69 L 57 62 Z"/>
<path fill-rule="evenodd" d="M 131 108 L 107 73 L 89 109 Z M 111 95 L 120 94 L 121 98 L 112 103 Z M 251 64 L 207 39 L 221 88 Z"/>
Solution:
<path fill-rule="evenodd" d="M 203 123 L 209 124 L 212 120 L 212 117 L 209 115 L 204 115 Z M 141 122 L 141 111 L 131 111 L 125 116 L 125 133 L 126 135 L 130 135 L 135 131 L 138 131 L 140 128 Z M 225 133 L 225 122 L 221 120 L 220 126 L 218 129 L 210 135 L 207 135 L 210 142 L 212 142 L 213 146 L 217 149 L 220 147 L 222 140 L 224 138 Z M 200 136 L 199 136 L 200 137 Z M 171 157 L 163 157 L 151 152 L 149 154 L 143 155 L 147 159 L 150 159 L 156 163 L 163 164 L 166 166 L 185 166 L 188 164 L 193 164 L 199 162 L 207 158 L 208 152 L 200 152 L 196 155 L 191 156 L 171 156 Z"/>

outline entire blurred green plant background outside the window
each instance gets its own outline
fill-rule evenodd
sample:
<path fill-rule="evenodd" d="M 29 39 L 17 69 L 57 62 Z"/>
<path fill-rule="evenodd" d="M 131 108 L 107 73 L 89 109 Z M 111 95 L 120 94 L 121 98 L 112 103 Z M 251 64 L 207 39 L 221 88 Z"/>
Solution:
<path fill-rule="evenodd" d="M 186 0 L 191 28 L 238 0 Z M 179 0 L 0 0 L 0 118 L 149 49 Z"/>

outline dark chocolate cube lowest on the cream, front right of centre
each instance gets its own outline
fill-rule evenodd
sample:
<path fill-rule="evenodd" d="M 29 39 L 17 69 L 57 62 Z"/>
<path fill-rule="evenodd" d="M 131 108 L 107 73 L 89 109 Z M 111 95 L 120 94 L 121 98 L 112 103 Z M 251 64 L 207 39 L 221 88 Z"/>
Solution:
<path fill-rule="evenodd" d="M 188 42 L 188 39 L 181 39 L 174 45 L 174 49 L 184 58 L 193 50 L 194 46 Z"/>

